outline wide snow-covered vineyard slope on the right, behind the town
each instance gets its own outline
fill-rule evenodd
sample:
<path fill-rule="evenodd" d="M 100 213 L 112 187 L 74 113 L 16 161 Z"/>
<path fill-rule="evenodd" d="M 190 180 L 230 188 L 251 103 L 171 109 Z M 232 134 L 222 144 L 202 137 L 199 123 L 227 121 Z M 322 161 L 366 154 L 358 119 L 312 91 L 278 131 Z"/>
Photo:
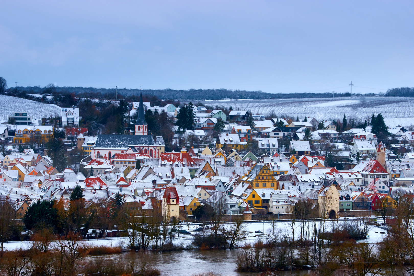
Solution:
<path fill-rule="evenodd" d="M 332 120 L 344 117 L 366 119 L 381 113 L 390 127 L 414 124 L 414 98 L 401 97 L 349 97 L 308 99 L 260 99 L 205 101 L 209 106 L 224 106 L 233 110 L 250 110 L 253 114 L 274 113 L 279 117 L 305 115 L 318 120 Z"/>

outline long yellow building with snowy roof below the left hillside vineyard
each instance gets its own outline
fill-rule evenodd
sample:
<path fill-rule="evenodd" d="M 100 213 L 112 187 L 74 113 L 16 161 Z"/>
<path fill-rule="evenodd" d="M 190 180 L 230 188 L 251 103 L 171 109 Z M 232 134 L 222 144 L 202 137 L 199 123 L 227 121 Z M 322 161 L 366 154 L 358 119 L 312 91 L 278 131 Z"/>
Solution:
<path fill-rule="evenodd" d="M 14 144 L 25 144 L 29 142 L 47 143 L 53 135 L 51 125 L 18 125 L 14 134 Z"/>

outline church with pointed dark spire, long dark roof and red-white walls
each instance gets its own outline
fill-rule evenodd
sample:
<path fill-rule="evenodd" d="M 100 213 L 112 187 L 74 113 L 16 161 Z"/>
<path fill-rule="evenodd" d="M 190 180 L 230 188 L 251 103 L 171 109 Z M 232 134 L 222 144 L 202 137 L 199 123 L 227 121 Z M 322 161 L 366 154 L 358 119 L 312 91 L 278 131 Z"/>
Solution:
<path fill-rule="evenodd" d="M 140 94 L 138 118 L 135 122 L 135 135 L 98 135 L 92 149 L 92 158 L 104 158 L 110 161 L 115 154 L 134 152 L 146 153 L 151 158 L 159 158 L 160 154 L 165 152 L 165 143 L 162 136 L 157 136 L 154 140 L 152 135 L 148 135 L 142 93 Z"/>

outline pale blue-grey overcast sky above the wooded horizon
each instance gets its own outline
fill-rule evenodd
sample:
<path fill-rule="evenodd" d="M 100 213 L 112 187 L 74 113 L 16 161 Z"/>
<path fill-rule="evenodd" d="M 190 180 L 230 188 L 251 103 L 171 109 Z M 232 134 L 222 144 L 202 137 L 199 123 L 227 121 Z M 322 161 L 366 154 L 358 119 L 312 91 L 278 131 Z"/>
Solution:
<path fill-rule="evenodd" d="M 414 86 L 413 1 L 5 1 L 9 86 L 385 92 Z"/>

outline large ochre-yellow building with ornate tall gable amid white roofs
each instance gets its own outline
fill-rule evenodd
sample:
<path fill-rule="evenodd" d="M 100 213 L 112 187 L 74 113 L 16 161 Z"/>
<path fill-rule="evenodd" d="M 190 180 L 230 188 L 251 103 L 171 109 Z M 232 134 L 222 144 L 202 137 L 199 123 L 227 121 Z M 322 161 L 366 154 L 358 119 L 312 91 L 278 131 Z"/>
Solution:
<path fill-rule="evenodd" d="M 279 190 L 279 182 L 274 178 L 273 171 L 269 169 L 268 165 L 256 164 L 241 180 L 249 183 L 255 189 Z"/>

